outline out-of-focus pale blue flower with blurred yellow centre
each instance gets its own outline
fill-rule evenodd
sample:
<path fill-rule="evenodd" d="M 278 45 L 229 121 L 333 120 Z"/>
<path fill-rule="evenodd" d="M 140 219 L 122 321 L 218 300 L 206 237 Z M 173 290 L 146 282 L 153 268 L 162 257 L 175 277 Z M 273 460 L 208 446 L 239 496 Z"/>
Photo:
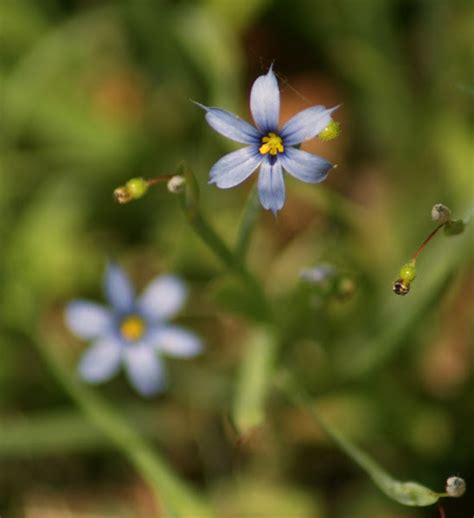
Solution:
<path fill-rule="evenodd" d="M 110 309 L 85 300 L 72 301 L 66 307 L 71 331 L 93 341 L 80 361 L 80 376 L 90 383 L 101 383 L 123 363 L 130 383 L 140 394 L 159 392 L 165 384 L 160 356 L 186 358 L 202 349 L 197 336 L 167 322 L 186 299 L 182 281 L 172 275 L 159 276 L 135 298 L 125 272 L 109 264 L 105 293 Z"/>

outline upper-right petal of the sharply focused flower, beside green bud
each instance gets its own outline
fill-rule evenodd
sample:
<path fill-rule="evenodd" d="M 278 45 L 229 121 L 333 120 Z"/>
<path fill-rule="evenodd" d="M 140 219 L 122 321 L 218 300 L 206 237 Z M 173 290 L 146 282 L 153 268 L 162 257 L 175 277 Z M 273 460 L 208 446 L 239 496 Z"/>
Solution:
<path fill-rule="evenodd" d="M 324 106 L 312 106 L 292 117 L 280 132 L 285 146 L 301 144 L 315 137 L 331 122 L 331 113 L 338 106 L 326 109 Z"/>

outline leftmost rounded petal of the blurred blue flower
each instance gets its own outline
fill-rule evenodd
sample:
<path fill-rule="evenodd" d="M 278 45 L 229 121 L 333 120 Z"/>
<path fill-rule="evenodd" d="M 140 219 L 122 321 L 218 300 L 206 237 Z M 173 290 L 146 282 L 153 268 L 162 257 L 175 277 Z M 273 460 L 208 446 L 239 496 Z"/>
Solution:
<path fill-rule="evenodd" d="M 112 325 L 112 316 L 107 309 L 86 300 L 70 302 L 64 316 L 69 329 L 85 340 L 106 334 Z"/>

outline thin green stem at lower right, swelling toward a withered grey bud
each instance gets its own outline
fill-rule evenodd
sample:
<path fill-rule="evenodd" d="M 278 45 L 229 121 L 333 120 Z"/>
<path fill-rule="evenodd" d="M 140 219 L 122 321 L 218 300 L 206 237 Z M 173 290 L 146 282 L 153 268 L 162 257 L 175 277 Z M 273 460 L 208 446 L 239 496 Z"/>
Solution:
<path fill-rule="evenodd" d="M 445 496 L 445 493 L 437 493 L 417 482 L 401 482 L 393 478 L 370 455 L 353 444 L 337 428 L 321 417 L 320 413 L 314 408 L 311 397 L 298 387 L 289 373 L 281 373 L 276 383 L 288 399 L 308 413 L 337 446 L 364 470 L 375 485 L 389 498 L 403 505 L 427 506 L 436 503 L 441 496 Z"/>

